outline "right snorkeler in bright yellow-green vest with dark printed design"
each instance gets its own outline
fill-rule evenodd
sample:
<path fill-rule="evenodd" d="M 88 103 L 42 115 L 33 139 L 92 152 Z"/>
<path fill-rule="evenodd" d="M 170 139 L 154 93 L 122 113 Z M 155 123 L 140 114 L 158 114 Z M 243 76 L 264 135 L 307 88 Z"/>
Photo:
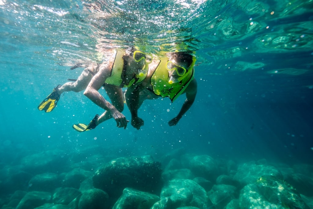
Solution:
<path fill-rule="evenodd" d="M 131 112 L 131 125 L 140 129 L 144 121 L 138 117 L 138 109 L 146 99 L 156 99 L 159 97 L 169 97 L 172 102 L 186 93 L 186 101 L 183 103 L 180 112 L 175 118 L 170 120 L 170 126 L 176 125 L 187 110 L 192 106 L 197 94 L 197 81 L 194 79 L 194 69 L 196 58 L 185 52 L 170 53 L 170 58 L 163 57 L 159 62 L 150 65 L 148 75 L 140 85 L 130 86 L 125 94 L 126 104 Z M 103 114 L 96 115 L 88 125 L 83 123 L 73 125 L 77 131 L 77 126 L 86 127 L 85 130 L 95 128 L 103 122 Z"/>

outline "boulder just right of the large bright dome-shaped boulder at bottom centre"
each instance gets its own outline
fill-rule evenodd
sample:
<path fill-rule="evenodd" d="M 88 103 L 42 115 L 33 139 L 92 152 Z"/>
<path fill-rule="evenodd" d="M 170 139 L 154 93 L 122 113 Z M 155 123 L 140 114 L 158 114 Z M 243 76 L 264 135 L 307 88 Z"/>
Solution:
<path fill-rule="evenodd" d="M 237 188 L 232 185 L 213 185 L 208 196 L 216 209 L 223 209 L 231 200 L 238 198 Z"/>

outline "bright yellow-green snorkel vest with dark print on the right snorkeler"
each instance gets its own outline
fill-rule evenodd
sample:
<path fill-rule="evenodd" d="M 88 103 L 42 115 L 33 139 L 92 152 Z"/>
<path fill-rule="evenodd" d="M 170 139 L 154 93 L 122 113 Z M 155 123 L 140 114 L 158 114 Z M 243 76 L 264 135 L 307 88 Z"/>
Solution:
<path fill-rule="evenodd" d="M 168 82 L 170 80 L 169 73 L 166 69 L 167 61 L 168 58 L 160 59 L 156 70 L 151 76 L 150 83 L 152 90 L 156 95 L 160 95 L 162 98 L 169 97 L 171 101 L 174 102 L 174 100 L 187 88 L 190 81 L 192 81 L 194 76 L 194 68 L 192 66 L 192 69 L 188 70 L 188 72 L 183 75 L 184 78 L 182 78 L 181 81 L 170 84 Z"/>

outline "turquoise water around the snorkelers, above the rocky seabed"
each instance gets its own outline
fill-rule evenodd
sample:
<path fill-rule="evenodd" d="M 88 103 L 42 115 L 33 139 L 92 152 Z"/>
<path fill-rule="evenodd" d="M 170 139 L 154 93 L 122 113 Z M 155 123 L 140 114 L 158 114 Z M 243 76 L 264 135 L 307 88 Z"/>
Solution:
<path fill-rule="evenodd" d="M 159 160 L 182 148 L 238 165 L 307 165 L 312 180 L 312 10 L 312 1 L 285 0 L 0 0 L 0 183 L 25 156 L 56 149 L 71 156 L 87 147 L 101 149 L 82 161 L 147 154 Z M 167 123 L 184 95 L 173 103 L 145 101 L 140 130 L 110 120 L 76 132 L 74 123 L 103 112 L 82 92 L 65 93 L 52 112 L 38 111 L 56 85 L 80 75 L 81 68 L 70 70 L 75 63 L 100 61 L 100 48 L 130 45 L 155 55 L 196 55 L 198 94 L 176 126 Z M 127 107 L 123 114 L 131 118 Z M 1 203 L 15 190 L 26 189 L 2 191 Z"/>

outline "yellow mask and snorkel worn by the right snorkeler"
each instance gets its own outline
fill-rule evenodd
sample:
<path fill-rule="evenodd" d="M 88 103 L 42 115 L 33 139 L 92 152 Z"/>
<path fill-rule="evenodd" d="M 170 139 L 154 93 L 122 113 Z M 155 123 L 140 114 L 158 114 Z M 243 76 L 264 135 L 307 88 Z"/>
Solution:
<path fill-rule="evenodd" d="M 193 66 L 195 65 L 197 59 L 196 57 L 192 57 L 192 63 L 186 70 L 186 68 L 173 63 L 172 61 L 167 61 L 166 69 L 170 72 L 170 80 L 169 84 L 176 83 L 182 81 L 189 73 L 192 71 Z"/>

